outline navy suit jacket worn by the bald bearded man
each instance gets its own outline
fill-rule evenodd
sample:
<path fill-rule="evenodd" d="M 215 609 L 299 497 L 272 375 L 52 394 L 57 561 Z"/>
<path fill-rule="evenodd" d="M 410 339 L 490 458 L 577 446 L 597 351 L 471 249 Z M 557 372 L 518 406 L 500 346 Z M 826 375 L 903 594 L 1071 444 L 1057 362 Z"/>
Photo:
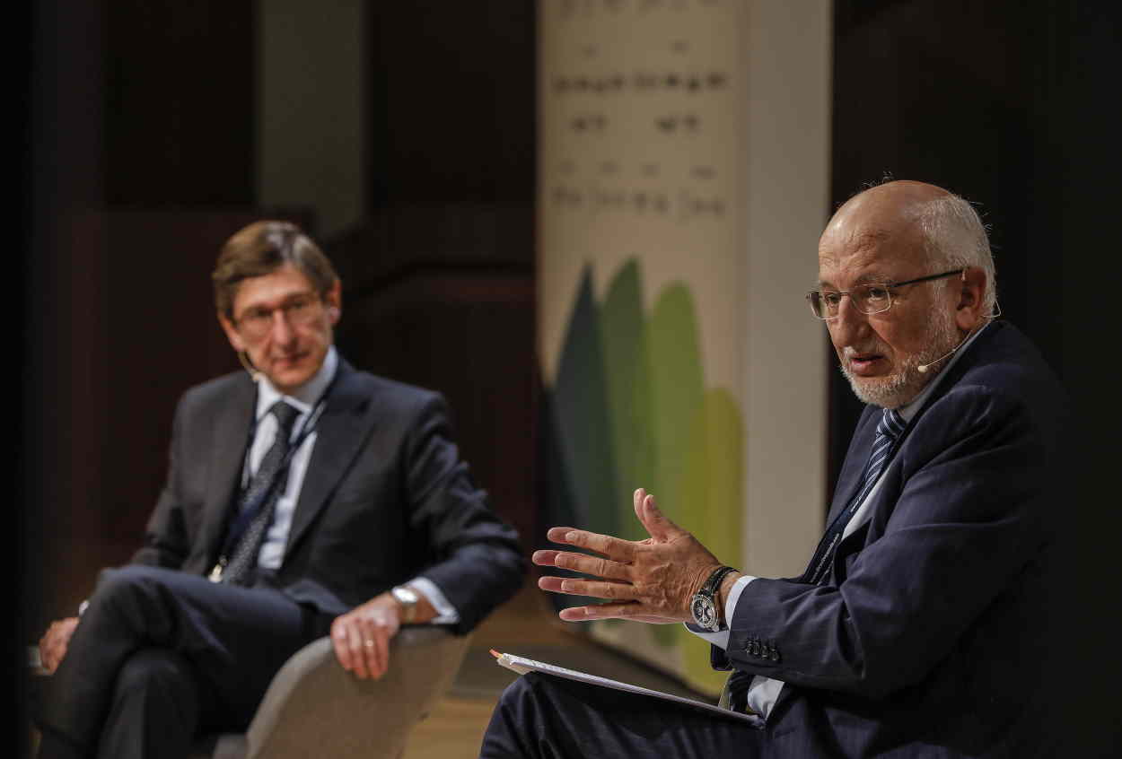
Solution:
<path fill-rule="evenodd" d="M 1006 323 L 947 371 L 828 581 L 761 578 L 737 603 L 730 664 L 785 683 L 766 726 L 775 756 L 1048 756 L 1067 401 Z M 862 416 L 828 519 L 880 416 Z"/>

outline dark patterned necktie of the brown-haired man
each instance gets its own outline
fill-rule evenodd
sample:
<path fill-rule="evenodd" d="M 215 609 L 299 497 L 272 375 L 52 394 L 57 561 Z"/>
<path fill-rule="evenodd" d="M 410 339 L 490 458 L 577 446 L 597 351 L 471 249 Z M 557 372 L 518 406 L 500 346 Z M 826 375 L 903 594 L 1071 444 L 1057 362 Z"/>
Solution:
<path fill-rule="evenodd" d="M 265 530 L 273 521 L 273 511 L 284 490 L 284 483 L 280 480 L 287 479 L 288 468 L 284 466 L 285 457 L 288 453 L 292 426 L 295 424 L 296 417 L 300 416 L 300 411 L 283 400 L 278 400 L 273 404 L 269 414 L 277 419 L 276 438 L 261 459 L 257 473 L 254 474 L 241 498 L 238 499 L 238 511 L 240 513 L 242 509 L 259 502 L 261 498 L 265 498 L 265 502 L 261 503 L 257 515 L 230 552 L 227 565 L 222 570 L 222 582 L 224 583 L 234 585 L 252 583 L 255 574 L 252 570 L 257 566 L 257 554 L 260 552 Z"/>

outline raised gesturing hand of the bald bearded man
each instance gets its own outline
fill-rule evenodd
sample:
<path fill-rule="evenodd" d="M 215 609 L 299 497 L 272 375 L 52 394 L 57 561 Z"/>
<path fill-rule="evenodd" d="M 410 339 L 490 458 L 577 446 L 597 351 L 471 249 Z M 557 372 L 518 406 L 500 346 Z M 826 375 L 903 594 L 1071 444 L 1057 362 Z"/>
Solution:
<path fill-rule="evenodd" d="M 646 540 L 622 540 L 571 527 L 553 527 L 553 543 L 588 548 L 599 556 L 567 550 L 534 552 L 534 564 L 594 575 L 599 580 L 542 577 L 537 586 L 553 593 L 591 595 L 608 603 L 574 607 L 559 615 L 569 622 L 620 618 L 640 622 L 692 621 L 690 600 L 721 563 L 697 538 L 670 521 L 640 488 L 634 496 L 635 516 L 651 536 Z"/>

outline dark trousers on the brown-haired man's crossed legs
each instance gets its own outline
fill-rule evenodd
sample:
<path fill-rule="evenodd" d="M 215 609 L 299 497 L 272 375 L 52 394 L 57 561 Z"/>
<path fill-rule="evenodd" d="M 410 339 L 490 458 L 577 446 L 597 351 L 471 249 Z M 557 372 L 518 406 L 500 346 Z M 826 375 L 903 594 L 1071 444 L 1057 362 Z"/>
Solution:
<path fill-rule="evenodd" d="M 114 711 L 114 698 L 126 663 L 140 649 L 160 648 L 176 654 L 195 684 L 206 688 L 213 710 L 211 724 L 203 726 L 243 729 L 274 673 L 313 637 L 311 621 L 309 612 L 275 590 L 217 585 L 148 566 L 107 570 L 45 688 L 37 722 L 45 737 L 75 747 L 79 756 L 92 755 L 107 720 L 125 715 Z M 168 703 L 149 707 L 178 709 Z M 114 729 L 136 725 L 126 719 Z M 156 756 L 175 756 L 181 750 L 176 735 L 165 733 L 166 753 Z M 40 749 L 40 756 L 52 755 Z"/>

